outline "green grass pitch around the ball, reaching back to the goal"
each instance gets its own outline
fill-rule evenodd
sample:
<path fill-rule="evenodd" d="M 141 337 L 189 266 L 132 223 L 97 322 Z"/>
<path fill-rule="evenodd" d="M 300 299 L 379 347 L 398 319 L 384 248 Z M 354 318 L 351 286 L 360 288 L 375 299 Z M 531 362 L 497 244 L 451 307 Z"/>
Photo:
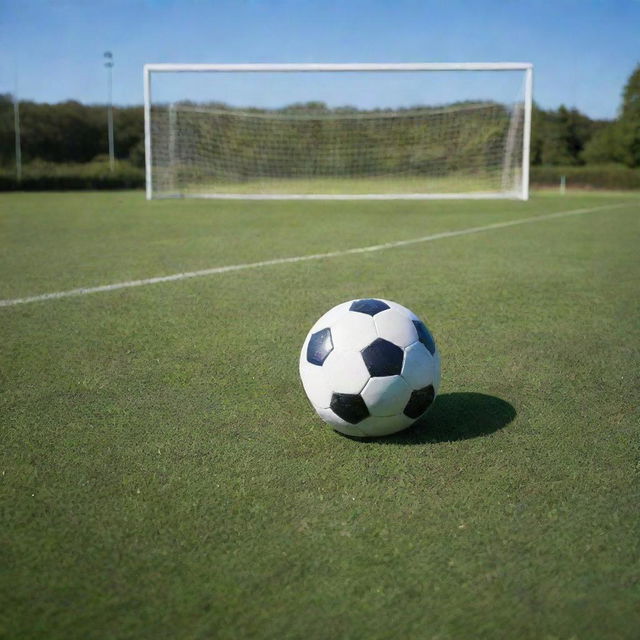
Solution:
<path fill-rule="evenodd" d="M 637 195 L 2 195 L 0 299 L 593 207 L 0 307 L 0 636 L 637 638 Z M 361 442 L 297 358 L 371 296 L 426 320 L 443 382 Z"/>

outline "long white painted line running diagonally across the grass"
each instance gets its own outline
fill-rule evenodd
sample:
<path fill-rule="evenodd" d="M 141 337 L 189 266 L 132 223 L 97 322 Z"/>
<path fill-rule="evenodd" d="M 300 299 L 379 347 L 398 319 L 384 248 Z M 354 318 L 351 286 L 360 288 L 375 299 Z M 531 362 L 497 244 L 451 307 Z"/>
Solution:
<path fill-rule="evenodd" d="M 359 253 L 372 253 L 374 251 L 384 251 L 385 249 L 395 249 L 396 247 L 406 247 L 412 244 L 420 244 L 423 242 L 431 242 L 433 240 L 442 240 L 444 238 L 455 238 L 457 236 L 466 236 L 472 233 L 481 233 L 492 229 L 504 229 L 506 227 L 515 227 L 521 224 L 529 224 L 532 222 L 540 222 L 543 220 L 552 220 L 554 218 L 566 218 L 567 216 L 577 216 L 584 213 L 592 213 L 595 211 L 603 211 L 605 209 L 619 209 L 628 206 L 628 203 L 617 205 L 602 205 L 599 207 L 590 207 L 588 209 L 573 209 L 571 211 L 559 211 L 542 216 L 532 216 L 530 218 L 520 218 L 518 220 L 510 220 L 508 222 L 496 222 L 481 227 L 469 227 L 467 229 L 459 229 L 457 231 L 443 231 L 419 238 L 410 238 L 409 240 L 397 240 L 395 242 L 385 242 L 383 244 L 374 244 L 368 247 L 357 247 L 355 249 L 342 249 L 340 251 L 329 251 L 327 253 L 314 253 L 306 256 L 293 256 L 290 258 L 274 258 L 273 260 L 262 260 L 260 262 L 248 262 L 245 264 L 232 264 L 226 267 L 213 267 L 211 269 L 200 269 L 199 271 L 185 271 L 183 273 L 174 273 L 168 276 L 158 276 L 155 278 L 145 278 L 143 280 L 129 280 L 128 282 L 116 282 L 113 284 L 105 284 L 98 287 L 82 287 L 80 289 L 69 289 L 67 291 L 55 291 L 53 293 L 43 293 L 36 296 L 26 298 L 14 298 L 8 300 L 0 300 L 0 307 L 13 307 L 18 304 L 26 304 L 28 302 L 43 302 L 45 300 L 57 300 L 59 298 L 70 298 L 72 296 L 82 296 L 88 293 L 101 293 L 103 291 L 117 291 L 118 289 L 130 289 L 131 287 L 143 287 L 149 284 L 159 284 L 161 282 L 173 282 L 175 280 L 186 280 L 187 278 L 201 278 L 204 276 L 213 276 L 219 273 L 229 273 L 231 271 L 243 271 L 245 269 L 258 269 L 260 267 L 270 267 L 276 264 L 288 264 L 294 262 L 307 262 L 309 260 L 323 260 L 326 258 L 338 258 Z"/>

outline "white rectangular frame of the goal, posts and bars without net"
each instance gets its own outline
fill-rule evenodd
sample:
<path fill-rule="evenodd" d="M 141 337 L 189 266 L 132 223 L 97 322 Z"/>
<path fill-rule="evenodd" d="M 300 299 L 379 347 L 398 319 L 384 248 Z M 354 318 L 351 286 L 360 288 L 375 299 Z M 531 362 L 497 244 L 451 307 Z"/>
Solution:
<path fill-rule="evenodd" d="M 382 72 L 382 71 L 524 71 L 524 123 L 522 133 L 522 176 L 520 188 L 513 193 L 384 193 L 384 194 L 184 194 L 153 196 L 151 148 L 151 77 L 154 73 L 191 72 Z M 281 63 L 281 64 L 145 64 L 144 139 L 147 200 L 153 197 L 217 198 L 242 200 L 437 200 L 437 199 L 496 199 L 528 200 L 529 158 L 531 143 L 531 111 L 533 103 L 533 64 L 530 62 L 410 62 L 410 63 Z"/>

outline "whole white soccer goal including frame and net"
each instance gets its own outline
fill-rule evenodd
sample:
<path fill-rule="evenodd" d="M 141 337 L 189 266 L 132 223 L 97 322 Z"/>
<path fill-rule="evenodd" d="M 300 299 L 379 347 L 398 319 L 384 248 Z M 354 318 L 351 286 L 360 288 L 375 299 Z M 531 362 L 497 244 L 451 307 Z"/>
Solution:
<path fill-rule="evenodd" d="M 147 198 L 518 198 L 530 63 L 147 64 Z"/>

